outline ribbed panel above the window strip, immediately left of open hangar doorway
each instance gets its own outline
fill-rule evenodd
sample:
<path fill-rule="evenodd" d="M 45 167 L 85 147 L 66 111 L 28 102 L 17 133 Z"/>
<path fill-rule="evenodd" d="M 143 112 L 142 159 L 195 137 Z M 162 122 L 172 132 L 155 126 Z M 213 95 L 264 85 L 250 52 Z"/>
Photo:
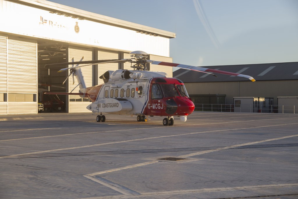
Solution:
<path fill-rule="evenodd" d="M 36 94 L 36 90 L 36 42 L 8 38 L 8 92 Z"/>

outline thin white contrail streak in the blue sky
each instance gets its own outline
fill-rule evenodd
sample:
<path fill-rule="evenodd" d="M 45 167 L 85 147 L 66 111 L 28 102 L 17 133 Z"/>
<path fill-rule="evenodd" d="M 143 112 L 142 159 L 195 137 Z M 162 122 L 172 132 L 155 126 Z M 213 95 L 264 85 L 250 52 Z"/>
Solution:
<path fill-rule="evenodd" d="M 195 11 L 198 14 L 198 17 L 200 18 L 201 23 L 203 24 L 207 34 L 209 35 L 212 43 L 214 44 L 214 46 L 216 48 L 220 47 L 220 43 L 218 41 L 218 39 L 216 38 L 212 27 L 209 25 L 209 21 L 207 19 L 207 17 L 205 16 L 203 7 L 200 5 L 200 1 L 199 0 L 193 0 L 193 4 L 195 5 Z"/>

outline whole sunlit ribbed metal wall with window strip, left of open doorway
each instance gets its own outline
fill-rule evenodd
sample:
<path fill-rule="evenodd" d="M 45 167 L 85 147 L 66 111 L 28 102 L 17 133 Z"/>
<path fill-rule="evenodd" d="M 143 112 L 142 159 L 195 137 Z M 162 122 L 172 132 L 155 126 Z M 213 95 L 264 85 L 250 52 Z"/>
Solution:
<path fill-rule="evenodd" d="M 0 36 L 0 93 L 0 114 L 37 113 L 36 41 Z"/>

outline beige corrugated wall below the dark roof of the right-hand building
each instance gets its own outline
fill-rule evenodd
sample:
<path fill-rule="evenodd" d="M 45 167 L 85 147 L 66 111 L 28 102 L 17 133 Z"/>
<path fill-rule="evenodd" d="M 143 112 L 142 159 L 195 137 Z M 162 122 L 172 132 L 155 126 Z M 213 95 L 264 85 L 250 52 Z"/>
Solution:
<path fill-rule="evenodd" d="M 235 82 L 203 82 L 185 83 L 188 94 L 226 94 L 226 104 L 233 104 L 233 97 L 277 97 L 298 96 L 298 81 L 235 81 Z"/>

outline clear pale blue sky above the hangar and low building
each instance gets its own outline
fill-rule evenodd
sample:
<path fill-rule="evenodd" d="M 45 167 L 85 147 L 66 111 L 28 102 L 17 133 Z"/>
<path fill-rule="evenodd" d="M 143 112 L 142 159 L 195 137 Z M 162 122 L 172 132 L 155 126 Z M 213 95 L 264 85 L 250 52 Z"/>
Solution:
<path fill-rule="evenodd" d="M 50 1 L 176 33 L 170 39 L 174 63 L 298 61 L 298 0 Z"/>

